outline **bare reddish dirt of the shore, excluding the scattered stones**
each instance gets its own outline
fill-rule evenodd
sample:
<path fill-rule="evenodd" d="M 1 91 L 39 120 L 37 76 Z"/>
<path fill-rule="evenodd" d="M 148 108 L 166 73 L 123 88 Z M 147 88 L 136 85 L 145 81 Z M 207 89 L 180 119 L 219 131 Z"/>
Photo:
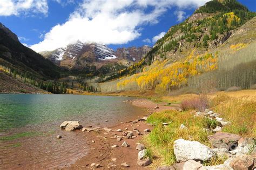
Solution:
<path fill-rule="evenodd" d="M 147 99 L 137 99 L 134 101 L 126 102 L 130 102 L 133 105 L 142 107 L 143 109 L 147 110 L 147 113 L 145 115 L 141 115 L 140 118 L 148 117 L 153 112 L 159 112 L 163 110 L 179 110 L 177 107 L 165 106 L 165 104 L 155 104 Z M 154 107 L 156 106 L 159 106 L 159 108 L 155 109 Z M 112 130 L 109 133 L 106 133 L 103 128 L 100 128 L 100 131 L 98 132 L 84 132 L 86 134 L 87 144 L 81 145 L 89 146 L 90 151 L 85 157 L 78 159 L 75 164 L 66 165 L 62 167 L 62 169 L 93 169 L 90 166 L 92 163 L 100 164 L 101 167 L 97 169 L 126 169 L 125 167 L 121 166 L 121 164 L 124 162 L 130 165 L 130 169 L 150 169 L 150 166 L 139 167 L 137 165 L 137 155 L 139 151 L 136 150 L 136 146 L 138 142 L 142 142 L 144 135 L 149 134 L 144 133 L 143 131 L 146 128 L 152 130 L 152 126 L 147 125 L 145 121 L 138 121 L 138 123 L 134 124 L 131 121 L 133 120 L 128 120 L 126 123 L 120 123 L 117 126 L 108 127 Z M 133 131 L 134 128 L 137 128 L 139 132 L 143 134 L 137 135 L 137 137 L 133 139 L 126 139 L 126 136 L 123 136 L 122 134 L 123 132 L 116 131 L 118 129 L 122 131 Z M 117 139 L 113 139 L 114 135 L 123 136 L 123 138 L 121 141 L 117 141 Z M 93 143 L 92 140 L 94 140 L 95 143 Z M 130 146 L 121 147 L 124 141 L 126 141 Z M 113 145 L 118 145 L 118 147 L 111 148 Z M 116 160 L 113 161 L 113 158 L 116 158 Z"/>

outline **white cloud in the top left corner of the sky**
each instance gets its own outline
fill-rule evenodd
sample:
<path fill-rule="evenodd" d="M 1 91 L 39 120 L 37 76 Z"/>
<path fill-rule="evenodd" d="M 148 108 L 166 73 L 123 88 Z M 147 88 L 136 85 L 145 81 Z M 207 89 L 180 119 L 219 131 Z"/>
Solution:
<path fill-rule="evenodd" d="M 29 13 L 48 13 L 47 0 L 1 0 L 0 1 L 0 16 L 19 16 L 21 14 L 28 15 Z"/>

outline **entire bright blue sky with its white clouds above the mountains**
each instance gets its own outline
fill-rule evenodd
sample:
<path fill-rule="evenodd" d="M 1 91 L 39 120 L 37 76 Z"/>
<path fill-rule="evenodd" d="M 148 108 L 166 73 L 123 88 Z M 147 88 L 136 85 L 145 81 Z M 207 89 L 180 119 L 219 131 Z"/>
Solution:
<path fill-rule="evenodd" d="M 207 0 L 1 0 L 0 22 L 35 51 L 74 43 L 152 46 Z M 255 0 L 239 0 L 256 11 Z M 20 4 L 17 4 L 20 3 Z M 40 43 L 41 42 L 41 43 Z"/>

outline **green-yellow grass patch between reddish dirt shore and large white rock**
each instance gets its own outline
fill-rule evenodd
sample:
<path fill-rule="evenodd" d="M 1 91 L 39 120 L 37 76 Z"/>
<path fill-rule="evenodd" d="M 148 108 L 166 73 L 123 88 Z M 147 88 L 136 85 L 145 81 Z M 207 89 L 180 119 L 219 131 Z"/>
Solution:
<path fill-rule="evenodd" d="M 147 123 L 154 124 L 154 129 L 145 138 L 147 147 L 151 149 L 157 160 L 154 164 L 172 165 L 176 163 L 173 151 L 173 143 L 179 138 L 185 140 L 196 140 L 210 146 L 207 141 L 209 135 L 203 130 L 204 127 L 210 126 L 204 117 L 193 117 L 194 112 L 184 111 L 163 111 L 157 112 L 147 119 Z M 168 126 L 162 123 L 170 122 Z M 180 125 L 184 124 L 186 128 L 180 129 Z"/>

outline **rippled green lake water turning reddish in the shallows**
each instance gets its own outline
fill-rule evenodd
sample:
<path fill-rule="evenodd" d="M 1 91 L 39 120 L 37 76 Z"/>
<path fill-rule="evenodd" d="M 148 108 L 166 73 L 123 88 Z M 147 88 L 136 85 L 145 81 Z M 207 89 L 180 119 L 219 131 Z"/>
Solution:
<path fill-rule="evenodd" d="M 57 94 L 0 94 L 0 169 L 58 167 L 83 157 L 82 132 L 66 132 L 65 120 L 83 126 L 111 127 L 133 120 L 142 108 L 124 103 L 131 97 Z M 118 121 L 117 121 L 118 119 Z M 105 120 L 109 120 L 106 122 Z M 58 140 L 56 135 L 64 136 Z M 65 156 L 63 157 L 64 154 Z M 47 162 L 47 164 L 43 162 Z"/>

